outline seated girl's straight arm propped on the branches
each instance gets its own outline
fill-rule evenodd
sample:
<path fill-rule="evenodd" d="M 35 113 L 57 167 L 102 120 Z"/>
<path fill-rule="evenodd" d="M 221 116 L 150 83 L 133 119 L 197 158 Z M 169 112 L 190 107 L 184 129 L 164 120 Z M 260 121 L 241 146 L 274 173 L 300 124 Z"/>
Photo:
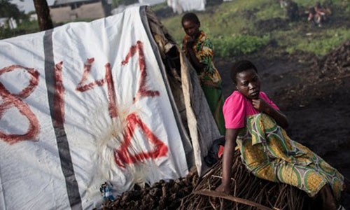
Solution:
<path fill-rule="evenodd" d="M 233 155 L 235 154 L 238 131 L 238 129 L 226 129 L 225 147 L 223 150 L 223 177 L 221 179 L 221 185 L 216 188 L 216 191 L 230 193 L 231 168 L 233 164 Z"/>

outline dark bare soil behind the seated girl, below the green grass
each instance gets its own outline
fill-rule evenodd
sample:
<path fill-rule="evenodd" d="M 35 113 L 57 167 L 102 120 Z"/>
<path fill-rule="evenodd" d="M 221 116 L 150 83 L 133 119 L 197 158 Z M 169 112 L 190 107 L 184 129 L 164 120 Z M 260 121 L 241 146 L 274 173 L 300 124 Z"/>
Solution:
<path fill-rule="evenodd" d="M 350 41 L 317 59 L 313 55 L 258 55 L 216 62 L 223 92 L 234 90 L 230 66 L 249 59 L 258 68 L 262 90 L 289 120 L 291 139 L 304 144 L 350 179 Z M 350 195 L 343 205 L 350 209 Z"/>

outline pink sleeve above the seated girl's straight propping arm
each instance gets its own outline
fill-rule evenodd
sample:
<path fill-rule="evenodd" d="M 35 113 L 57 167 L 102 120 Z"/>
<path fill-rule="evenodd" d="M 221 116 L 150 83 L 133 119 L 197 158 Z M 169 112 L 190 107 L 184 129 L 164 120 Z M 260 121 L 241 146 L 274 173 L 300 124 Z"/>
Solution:
<path fill-rule="evenodd" d="M 244 98 L 241 94 L 233 94 L 225 100 L 223 105 L 223 116 L 225 118 L 225 127 L 227 129 L 236 129 L 244 127 L 246 110 Z"/>

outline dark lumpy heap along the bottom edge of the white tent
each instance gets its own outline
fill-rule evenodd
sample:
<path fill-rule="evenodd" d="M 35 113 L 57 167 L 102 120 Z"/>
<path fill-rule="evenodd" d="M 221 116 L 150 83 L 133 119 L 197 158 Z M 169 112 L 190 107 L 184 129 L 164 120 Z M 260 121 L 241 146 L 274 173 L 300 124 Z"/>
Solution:
<path fill-rule="evenodd" d="M 179 209 L 181 199 L 190 195 L 197 181 L 198 174 L 193 170 L 185 178 L 169 181 L 160 180 L 145 188 L 135 186 L 134 190 L 116 197 L 113 202 L 107 201 L 104 203 L 102 209 Z"/>

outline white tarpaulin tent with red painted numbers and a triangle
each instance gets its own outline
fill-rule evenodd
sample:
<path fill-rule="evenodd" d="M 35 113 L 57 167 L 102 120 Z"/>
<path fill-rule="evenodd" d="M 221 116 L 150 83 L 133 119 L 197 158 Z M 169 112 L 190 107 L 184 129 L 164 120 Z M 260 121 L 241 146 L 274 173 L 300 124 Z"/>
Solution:
<path fill-rule="evenodd" d="M 104 181 L 120 194 L 205 170 L 220 134 L 157 24 L 134 7 L 0 41 L 0 209 L 92 209 Z"/>

